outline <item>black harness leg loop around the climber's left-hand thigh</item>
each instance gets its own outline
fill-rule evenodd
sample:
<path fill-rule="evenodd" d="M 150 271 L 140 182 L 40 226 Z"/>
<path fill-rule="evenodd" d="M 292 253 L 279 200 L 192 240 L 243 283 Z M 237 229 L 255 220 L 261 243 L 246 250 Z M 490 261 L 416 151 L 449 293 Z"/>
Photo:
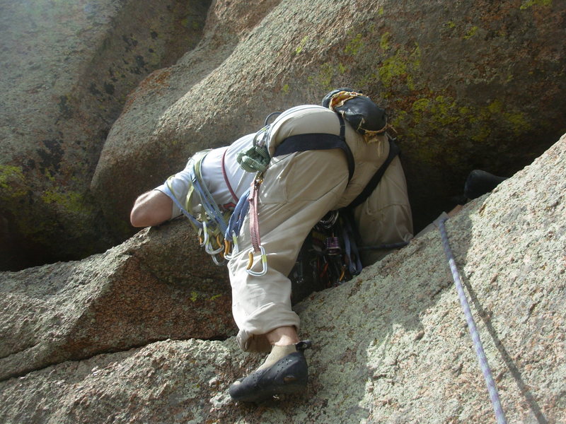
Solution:
<path fill-rule="evenodd" d="M 329 150 L 331 148 L 340 148 L 346 154 L 348 162 L 348 181 L 354 175 L 354 155 L 350 150 L 350 146 L 346 143 L 346 129 L 344 119 L 337 114 L 340 119 L 340 136 L 336 134 L 311 133 L 298 134 L 296 136 L 287 137 L 275 149 L 274 156 L 287 155 L 288 153 L 304 152 L 309 150 Z"/>

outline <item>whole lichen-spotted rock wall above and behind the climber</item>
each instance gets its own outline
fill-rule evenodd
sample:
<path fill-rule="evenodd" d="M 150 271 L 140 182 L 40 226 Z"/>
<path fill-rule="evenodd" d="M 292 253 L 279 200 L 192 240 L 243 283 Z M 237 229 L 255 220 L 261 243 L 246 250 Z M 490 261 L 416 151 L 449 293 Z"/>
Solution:
<path fill-rule="evenodd" d="M 1 269 L 122 242 L 135 196 L 191 153 L 337 86 L 388 110 L 417 228 L 473 168 L 512 175 L 565 131 L 563 1 L 0 8 Z"/>

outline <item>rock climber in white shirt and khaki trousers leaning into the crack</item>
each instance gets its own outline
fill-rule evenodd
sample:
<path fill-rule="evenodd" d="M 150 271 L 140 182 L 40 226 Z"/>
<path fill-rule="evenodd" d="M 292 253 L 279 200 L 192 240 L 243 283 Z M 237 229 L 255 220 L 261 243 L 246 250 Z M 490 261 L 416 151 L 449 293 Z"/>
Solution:
<path fill-rule="evenodd" d="M 386 162 L 389 128 L 385 111 L 367 96 L 350 88 L 333 90 L 320 106 L 292 107 L 258 133 L 193 155 L 184 170 L 135 201 L 132 225 L 158 225 L 181 214 L 197 218 L 192 222 L 199 225 L 201 237 L 208 235 L 203 245 L 218 258 L 221 243 L 214 240 L 226 228 L 219 230 L 216 225 L 212 232 L 211 217 L 220 222 L 219 217 L 226 218 L 233 205 L 248 196 L 249 211 L 242 216 L 237 232 L 233 231 L 238 248 L 226 255 L 230 258 L 233 317 L 243 351 L 269 355 L 257 370 L 231 385 L 233 400 L 262 401 L 306 389 L 304 350 L 311 342 L 298 336 L 299 316 L 291 310 L 287 276 L 313 226 L 328 211 L 350 205 Z M 294 143 L 329 139 L 332 142 L 321 150 L 294 147 Z M 244 163 L 260 159 L 253 157 L 254 151 L 263 152 L 264 169 L 246 172 Z M 251 192 L 246 193 L 250 187 Z M 398 156 L 389 160 L 379 184 L 352 213 L 362 245 L 412 238 Z M 250 256 L 252 260 L 256 257 L 253 265 Z M 381 256 L 383 252 L 364 252 L 364 264 Z"/>

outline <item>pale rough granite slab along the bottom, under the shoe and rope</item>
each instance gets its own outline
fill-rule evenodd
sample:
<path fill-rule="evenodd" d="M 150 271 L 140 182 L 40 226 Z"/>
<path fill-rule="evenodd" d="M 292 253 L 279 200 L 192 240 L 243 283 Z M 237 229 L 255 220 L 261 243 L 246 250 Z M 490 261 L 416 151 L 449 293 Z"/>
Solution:
<path fill-rule="evenodd" d="M 566 421 L 566 136 L 447 223 L 509 423 Z M 158 341 L 0 383 L 3 423 L 490 423 L 437 231 L 297 306 L 308 396 L 231 403 L 260 358 Z"/>

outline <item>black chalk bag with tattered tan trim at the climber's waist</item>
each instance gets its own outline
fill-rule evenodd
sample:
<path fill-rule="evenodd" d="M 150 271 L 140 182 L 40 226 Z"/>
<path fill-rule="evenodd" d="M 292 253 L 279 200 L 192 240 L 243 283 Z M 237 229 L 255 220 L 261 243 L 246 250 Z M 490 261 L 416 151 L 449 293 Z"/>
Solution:
<path fill-rule="evenodd" d="M 323 107 L 340 113 L 359 134 L 381 133 L 387 126 L 385 110 L 352 88 L 337 88 L 324 96 Z"/>

